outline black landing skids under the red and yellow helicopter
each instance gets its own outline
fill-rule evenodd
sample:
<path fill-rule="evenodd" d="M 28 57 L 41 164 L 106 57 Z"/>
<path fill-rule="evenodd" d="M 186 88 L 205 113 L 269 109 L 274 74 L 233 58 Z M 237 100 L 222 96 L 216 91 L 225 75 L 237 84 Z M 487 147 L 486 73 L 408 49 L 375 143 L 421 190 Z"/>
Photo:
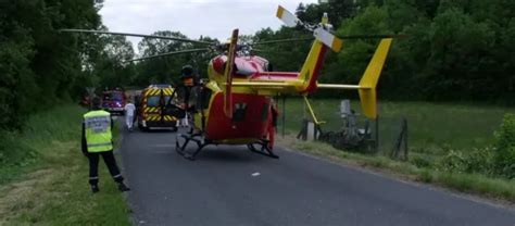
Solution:
<path fill-rule="evenodd" d="M 179 139 L 184 139 L 183 145 L 180 145 Z M 197 143 L 197 149 L 194 150 L 193 153 L 187 152 L 186 147 L 188 147 L 188 143 L 192 141 Z M 213 143 L 210 140 L 205 140 L 202 136 L 202 134 L 178 134 L 177 138 L 175 139 L 175 151 L 183 155 L 185 159 L 194 161 L 197 158 L 197 154 L 202 151 L 202 149 L 209 145 L 217 145 Z M 258 148 L 255 146 L 259 146 Z M 263 154 L 265 156 L 269 156 L 273 159 L 279 159 L 277 154 L 274 153 L 274 151 L 271 150 L 269 148 L 269 141 L 268 140 L 260 140 L 254 143 L 249 143 L 247 145 L 247 148 L 249 148 L 250 151 Z"/>

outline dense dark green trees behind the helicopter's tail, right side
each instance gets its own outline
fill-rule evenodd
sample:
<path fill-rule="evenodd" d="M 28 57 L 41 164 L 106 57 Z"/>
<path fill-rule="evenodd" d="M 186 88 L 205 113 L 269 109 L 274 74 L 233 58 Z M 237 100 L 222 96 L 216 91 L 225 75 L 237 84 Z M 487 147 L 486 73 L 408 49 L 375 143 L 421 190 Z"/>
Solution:
<path fill-rule="evenodd" d="M 340 36 L 405 35 L 405 38 L 394 40 L 390 52 L 380 81 L 382 98 L 513 102 L 515 1 L 347 2 L 353 1 L 300 5 L 297 14 L 316 22 L 321 12 L 329 12 L 336 34 Z M 330 9 L 339 5 L 346 5 L 346 10 L 331 12 Z M 297 33 L 288 28 L 278 32 L 263 29 L 256 38 L 299 36 Z M 346 40 L 342 52 L 328 56 L 322 79 L 357 83 L 377 42 Z M 305 55 L 303 48 L 290 43 L 278 48 L 279 53 L 272 52 L 267 56 L 277 62 L 275 65 L 280 70 L 294 70 L 299 67 L 299 59 Z"/>

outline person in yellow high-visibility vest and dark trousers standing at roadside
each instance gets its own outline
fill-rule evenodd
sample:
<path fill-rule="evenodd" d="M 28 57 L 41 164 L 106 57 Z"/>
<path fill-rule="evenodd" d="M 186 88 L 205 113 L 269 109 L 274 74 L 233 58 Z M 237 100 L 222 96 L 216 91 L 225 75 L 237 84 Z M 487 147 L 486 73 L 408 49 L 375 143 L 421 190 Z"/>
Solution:
<path fill-rule="evenodd" d="M 92 110 L 84 115 L 83 118 L 83 153 L 89 160 L 89 185 L 93 193 L 99 191 L 98 166 L 99 159 L 102 156 L 105 165 L 111 173 L 114 181 L 118 184 L 120 191 L 130 190 L 124 184 L 124 177 L 120 173 L 116 160 L 113 154 L 112 131 L 113 120 L 111 114 L 101 110 L 100 99 L 95 98 Z"/>

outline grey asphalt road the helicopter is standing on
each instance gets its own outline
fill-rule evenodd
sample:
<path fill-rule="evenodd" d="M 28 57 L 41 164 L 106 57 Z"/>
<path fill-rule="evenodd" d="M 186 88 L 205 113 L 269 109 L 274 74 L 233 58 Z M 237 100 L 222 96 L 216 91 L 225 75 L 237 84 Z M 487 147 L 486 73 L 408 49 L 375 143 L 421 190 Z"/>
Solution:
<path fill-rule="evenodd" d="M 194 162 L 175 133 L 124 133 L 137 225 L 508 225 L 515 212 L 279 149 L 209 147 Z"/>

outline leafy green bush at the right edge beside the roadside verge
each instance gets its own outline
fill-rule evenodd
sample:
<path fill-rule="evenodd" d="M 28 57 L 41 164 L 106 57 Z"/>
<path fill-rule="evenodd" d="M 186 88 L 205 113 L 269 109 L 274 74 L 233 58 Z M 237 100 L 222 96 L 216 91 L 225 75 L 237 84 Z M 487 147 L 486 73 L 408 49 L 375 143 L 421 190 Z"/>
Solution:
<path fill-rule="evenodd" d="M 494 137 L 491 147 L 468 151 L 449 150 L 439 161 L 438 170 L 515 178 L 515 114 L 504 115 Z"/>

